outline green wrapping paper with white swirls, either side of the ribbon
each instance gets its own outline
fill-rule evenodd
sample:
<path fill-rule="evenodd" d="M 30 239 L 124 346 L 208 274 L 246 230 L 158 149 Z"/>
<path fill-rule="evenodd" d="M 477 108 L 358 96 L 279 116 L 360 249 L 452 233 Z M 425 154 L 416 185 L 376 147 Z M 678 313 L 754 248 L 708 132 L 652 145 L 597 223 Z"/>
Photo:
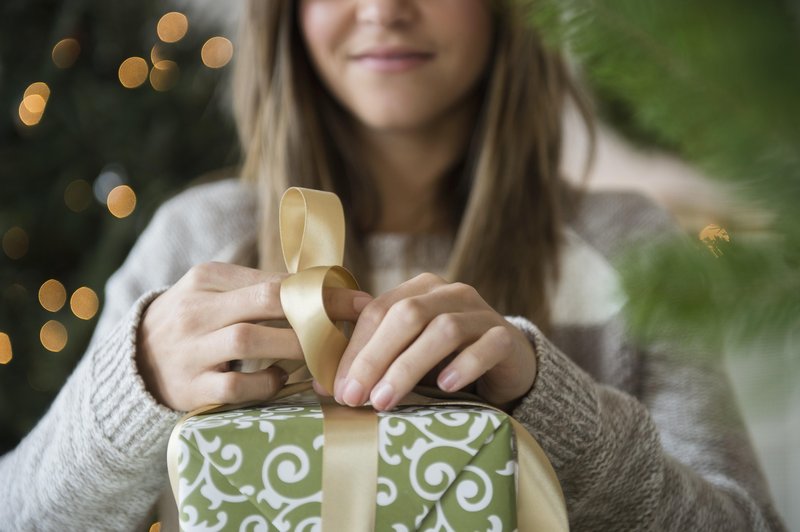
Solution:
<path fill-rule="evenodd" d="M 377 413 L 375 530 L 514 530 L 513 430 L 491 409 Z M 272 404 L 203 414 L 175 431 L 183 530 L 321 530 L 323 414 Z M 350 479 L 338 479 L 349 490 Z"/>

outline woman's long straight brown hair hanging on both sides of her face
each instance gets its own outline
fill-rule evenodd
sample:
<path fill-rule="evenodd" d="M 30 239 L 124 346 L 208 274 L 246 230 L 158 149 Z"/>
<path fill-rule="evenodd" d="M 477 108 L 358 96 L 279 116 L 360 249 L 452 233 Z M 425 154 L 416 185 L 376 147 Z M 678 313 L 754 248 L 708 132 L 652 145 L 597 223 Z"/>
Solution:
<path fill-rule="evenodd" d="M 380 216 L 377 192 L 337 128 L 345 111 L 314 73 L 295 0 L 251 0 L 244 13 L 234 105 L 243 178 L 261 200 L 260 266 L 282 269 L 277 206 L 289 186 L 337 193 L 348 218 L 346 264 L 368 268 L 363 237 Z M 562 114 L 588 107 L 564 61 L 547 50 L 517 0 L 493 2 L 494 53 L 468 153 L 443 197 L 455 220 L 448 278 L 473 285 L 505 314 L 549 325 L 569 193 L 559 174 Z M 346 138 L 346 137 L 345 137 Z"/>

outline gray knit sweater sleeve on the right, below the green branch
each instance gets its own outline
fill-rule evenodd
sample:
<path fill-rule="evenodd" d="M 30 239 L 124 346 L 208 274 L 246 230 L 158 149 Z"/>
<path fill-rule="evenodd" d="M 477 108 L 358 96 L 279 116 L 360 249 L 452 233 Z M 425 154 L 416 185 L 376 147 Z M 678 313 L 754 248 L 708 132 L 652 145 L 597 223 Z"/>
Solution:
<path fill-rule="evenodd" d="M 514 416 L 550 458 L 573 530 L 784 529 L 719 361 L 654 347 L 639 400 L 509 321 L 538 360 Z"/>

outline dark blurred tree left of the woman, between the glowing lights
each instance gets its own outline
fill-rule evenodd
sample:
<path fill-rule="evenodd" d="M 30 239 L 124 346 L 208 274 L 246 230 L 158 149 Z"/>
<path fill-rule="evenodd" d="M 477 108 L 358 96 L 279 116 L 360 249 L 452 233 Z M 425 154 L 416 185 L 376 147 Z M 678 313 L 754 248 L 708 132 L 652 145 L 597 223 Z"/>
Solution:
<path fill-rule="evenodd" d="M 220 81 L 231 65 L 210 69 L 200 55 L 220 29 L 190 19 L 184 38 L 163 43 L 156 26 L 169 10 L 151 0 L 5 0 L 0 7 L 0 239 L 13 227 L 28 237 L 19 258 L 0 250 L 0 333 L 13 350 L 12 360 L 0 365 L 0 454 L 41 417 L 89 341 L 96 316 L 73 315 L 74 290 L 87 286 L 102 304 L 105 280 L 154 209 L 193 180 L 238 162 L 235 131 L 220 105 Z M 72 66 L 59 68 L 52 51 L 64 38 L 74 38 L 80 52 Z M 120 64 L 139 56 L 152 67 L 158 43 L 179 68 L 177 83 L 167 91 L 149 81 L 123 87 Z M 41 121 L 26 126 L 19 106 L 34 82 L 46 83 L 51 94 Z M 102 174 L 134 190 L 133 214 L 112 216 L 107 190 L 99 197 L 84 191 L 76 200 L 85 184 L 71 189 L 73 204 L 82 208 L 68 208 L 70 184 L 83 180 L 99 189 Z M 55 313 L 38 299 L 48 279 L 67 292 L 67 304 Z M 49 320 L 69 335 L 57 353 L 39 338 Z"/>

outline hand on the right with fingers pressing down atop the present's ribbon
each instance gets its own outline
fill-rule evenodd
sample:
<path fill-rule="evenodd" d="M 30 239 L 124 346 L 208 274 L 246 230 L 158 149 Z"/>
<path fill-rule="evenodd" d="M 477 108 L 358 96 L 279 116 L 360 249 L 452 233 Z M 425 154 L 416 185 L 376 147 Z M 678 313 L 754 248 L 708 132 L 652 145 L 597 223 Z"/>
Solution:
<path fill-rule="evenodd" d="M 477 290 L 425 273 L 367 303 L 339 363 L 334 396 L 390 410 L 442 363 L 439 388 L 476 383 L 478 395 L 498 406 L 527 393 L 536 376 L 530 341 Z"/>

